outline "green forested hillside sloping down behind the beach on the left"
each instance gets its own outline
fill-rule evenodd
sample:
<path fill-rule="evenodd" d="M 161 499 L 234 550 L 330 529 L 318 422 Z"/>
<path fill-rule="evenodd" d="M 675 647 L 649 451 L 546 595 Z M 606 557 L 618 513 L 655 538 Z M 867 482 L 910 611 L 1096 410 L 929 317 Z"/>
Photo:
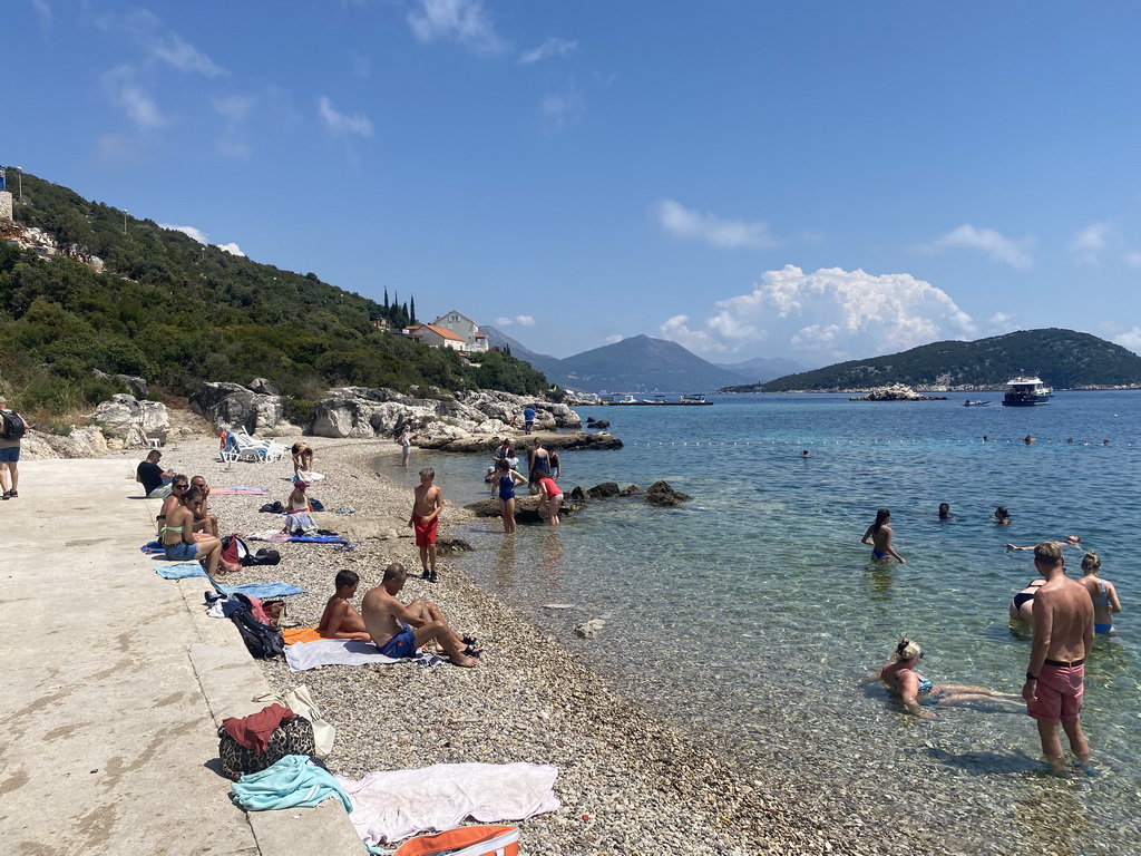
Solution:
<path fill-rule="evenodd" d="M 469 365 L 452 350 L 378 330 L 378 318 L 398 331 L 415 315 L 411 296 L 369 300 L 27 173 L 23 196 L 17 226 L 43 229 L 67 256 L 0 245 L 0 389 L 24 411 L 74 413 L 121 391 L 95 370 L 141 375 L 170 396 L 201 380 L 264 377 L 302 409 L 341 385 L 547 389 L 541 373 L 510 356 L 489 353 Z"/>

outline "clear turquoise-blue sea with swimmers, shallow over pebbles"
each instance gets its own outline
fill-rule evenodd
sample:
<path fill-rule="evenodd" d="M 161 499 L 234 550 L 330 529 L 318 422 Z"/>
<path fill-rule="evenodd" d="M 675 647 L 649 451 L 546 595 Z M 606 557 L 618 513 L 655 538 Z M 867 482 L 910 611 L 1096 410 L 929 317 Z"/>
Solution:
<path fill-rule="evenodd" d="M 693 501 L 608 500 L 513 539 L 497 520 L 477 520 L 466 535 L 476 552 L 459 562 L 620 692 L 746 768 L 811 777 L 872 811 L 897 805 L 888 780 L 906 782 L 913 810 L 950 853 L 1041 851 L 1011 830 L 1029 834 L 1063 800 L 1066 853 L 1123 853 L 1141 832 L 1141 393 L 1059 393 L 1029 409 L 1000 406 L 1001 394 L 964 407 L 968 397 L 980 395 L 580 407 L 584 420 L 609 420 L 625 446 L 564 453 L 564 490 L 664 478 Z M 1027 435 L 1038 442 L 1026 445 Z M 484 495 L 487 463 L 416 453 L 413 469 L 434 466 L 447 498 L 466 502 Z M 381 471 L 414 478 L 395 461 Z M 937 519 L 940 502 L 953 520 Z M 1010 526 L 995 525 L 1000 504 Z M 906 565 L 871 563 L 860 544 L 881 506 Z M 950 708 L 920 722 L 879 687 L 858 686 L 906 635 L 923 645 L 936 684 L 1020 692 L 1029 639 L 1006 607 L 1036 574 L 1029 554 L 1004 544 L 1069 533 L 1101 556 L 1125 608 L 1087 664 L 1083 721 L 1097 775 L 1046 775 L 1021 712 Z M 1081 557 L 1067 554 L 1071 575 Z M 599 616 L 597 639 L 574 635 Z"/>

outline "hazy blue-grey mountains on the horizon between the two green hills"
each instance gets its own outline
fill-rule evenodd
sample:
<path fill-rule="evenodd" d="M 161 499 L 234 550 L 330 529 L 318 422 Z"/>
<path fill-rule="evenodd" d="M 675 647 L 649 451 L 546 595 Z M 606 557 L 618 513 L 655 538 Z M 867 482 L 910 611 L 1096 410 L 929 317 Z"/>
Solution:
<path fill-rule="evenodd" d="M 487 334 L 492 347 L 510 348 L 511 356 L 531 363 L 551 383 L 582 393 L 709 393 L 760 377 L 753 371 L 714 365 L 677 342 L 648 336 L 634 336 L 559 360 L 531 350 L 493 326 L 479 330 Z"/>

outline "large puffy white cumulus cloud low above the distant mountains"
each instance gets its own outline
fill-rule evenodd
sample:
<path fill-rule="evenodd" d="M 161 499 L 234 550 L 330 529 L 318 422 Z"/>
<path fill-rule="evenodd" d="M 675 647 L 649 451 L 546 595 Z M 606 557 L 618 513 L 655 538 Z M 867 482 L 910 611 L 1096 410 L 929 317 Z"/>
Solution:
<path fill-rule="evenodd" d="M 979 323 L 946 292 L 911 274 L 841 268 L 806 274 L 787 265 L 767 272 L 750 293 L 717 301 L 704 323 L 675 315 L 659 331 L 690 350 L 736 350 L 768 340 L 774 353 L 836 362 L 1003 332 L 1009 321 Z"/>

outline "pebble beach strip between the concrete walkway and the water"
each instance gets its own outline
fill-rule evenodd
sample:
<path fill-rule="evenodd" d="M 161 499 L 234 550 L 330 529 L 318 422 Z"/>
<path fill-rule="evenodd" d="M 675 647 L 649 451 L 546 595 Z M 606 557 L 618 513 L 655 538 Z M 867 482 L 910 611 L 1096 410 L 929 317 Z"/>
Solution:
<path fill-rule="evenodd" d="M 326 479 L 310 494 L 327 509 L 317 515 L 318 524 L 349 535 L 356 549 L 285 543 L 278 546 L 281 565 L 246 568 L 227 581 L 283 580 L 305 588 L 306 595 L 289 599 L 289 614 L 308 625 L 319 617 L 338 570 L 355 570 L 362 590 L 379 582 L 389 562 L 415 572 L 419 560 L 405 526 L 410 492 L 366 466 L 386 450 L 399 454 L 395 444 L 377 441 L 316 444 L 315 469 Z M 217 443 L 201 439 L 169 447 L 163 462 L 200 473 L 215 487 L 270 491 L 268 498 L 213 498 L 225 531 L 280 525 L 280 518 L 257 509 L 284 499 L 292 475 L 288 459 L 227 470 L 218 462 Z M 349 508 L 355 514 L 335 512 Z M 448 503 L 443 533 L 469 519 L 469 511 Z M 516 538 L 534 532 L 520 527 Z M 826 799 L 824 784 L 764 781 L 760 770 L 624 697 L 448 559 L 439 568 L 442 583 L 412 579 L 405 595 L 435 600 L 458 629 L 477 636 L 485 647 L 478 668 L 331 668 L 292 675 L 284 662 L 265 664 L 275 688 L 308 685 L 337 726 L 337 746 L 327 758 L 332 770 L 359 776 L 437 762 L 553 764 L 563 808 L 520 824 L 524 847 L 536 854 L 893 851 L 881 843 L 882 830 L 871 834 L 867 818 L 855 818 L 850 807 Z"/>

